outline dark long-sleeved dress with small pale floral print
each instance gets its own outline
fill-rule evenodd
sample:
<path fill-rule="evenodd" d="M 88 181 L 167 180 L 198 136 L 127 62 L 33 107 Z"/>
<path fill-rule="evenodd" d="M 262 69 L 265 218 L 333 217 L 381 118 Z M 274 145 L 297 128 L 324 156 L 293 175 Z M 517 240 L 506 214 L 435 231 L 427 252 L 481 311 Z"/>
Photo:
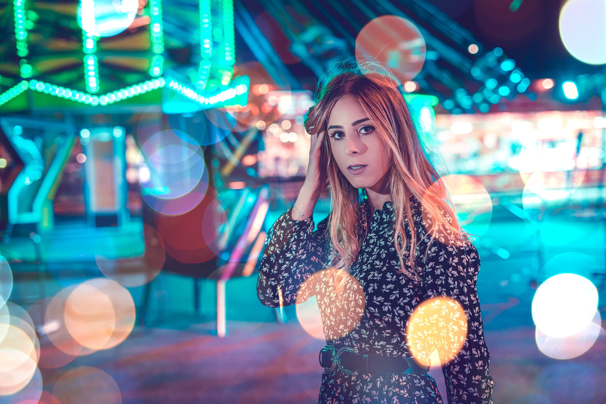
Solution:
<path fill-rule="evenodd" d="M 455 242 L 439 233 L 431 242 L 428 258 L 424 253 L 430 235 L 425 228 L 427 211 L 411 196 L 411 212 L 417 240 L 415 265 L 422 270 L 421 282 L 398 272 L 399 261 L 393 245 L 395 211 L 391 202 L 371 213 L 366 200 L 359 205 L 360 250 L 351 263 L 345 299 L 335 299 L 330 290 L 330 236 L 328 220 L 313 231 L 313 218 L 293 220 L 290 208 L 268 231 L 260 263 L 257 294 L 271 307 L 304 302 L 315 295 L 322 314 L 327 344 L 357 348 L 359 353 L 415 357 L 406 338 L 411 314 L 419 303 L 435 296 L 460 302 L 467 317 L 467 333 L 454 357 L 442 360 L 448 403 L 491 404 L 493 379 L 488 372 L 490 354 L 484 342 L 476 277 L 480 268 L 478 251 L 471 243 Z M 425 213 L 425 214 L 424 214 Z M 446 217 L 452 223 L 450 217 Z M 410 240 L 407 217 L 404 228 Z M 410 241 L 409 241 L 410 243 Z M 404 262 L 410 267 L 409 245 Z M 324 264 L 324 265 L 322 265 Z M 335 270 L 332 270 L 335 271 Z M 440 349 L 438 349 L 442 352 Z M 319 365 L 318 365 L 319 366 Z M 347 374 L 339 369 L 324 370 L 319 404 L 443 403 L 436 381 L 429 374 Z"/>

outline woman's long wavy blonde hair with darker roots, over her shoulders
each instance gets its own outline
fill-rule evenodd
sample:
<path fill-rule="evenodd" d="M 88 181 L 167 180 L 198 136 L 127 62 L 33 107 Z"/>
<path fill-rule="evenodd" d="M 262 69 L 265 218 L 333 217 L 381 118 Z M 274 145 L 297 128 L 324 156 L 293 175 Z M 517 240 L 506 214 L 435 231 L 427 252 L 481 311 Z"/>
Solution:
<path fill-rule="evenodd" d="M 415 124 L 404 99 L 404 90 L 395 76 L 387 72 L 377 62 L 356 63 L 343 61 L 333 65 L 319 81 L 314 104 L 305 117 L 305 130 L 311 135 L 327 131 L 331 111 L 339 99 L 351 96 L 362 106 L 362 109 L 376 126 L 376 136 L 381 136 L 384 144 L 391 150 L 390 169 L 385 182 L 388 187 L 391 204 L 395 211 L 394 245 L 399 259 L 399 272 L 413 280 L 420 280 L 415 271 L 409 271 L 404 265 L 404 251 L 407 236 L 404 231 L 404 214 L 411 228 L 410 257 L 416 257 L 415 225 L 411 214 L 409 195 L 415 196 L 430 215 L 431 240 L 425 250 L 427 260 L 428 248 L 440 230 L 446 230 L 454 240 L 467 242 L 467 233 L 456 220 L 456 212 L 451 207 L 448 190 L 438 172 L 426 154 L 431 154 L 421 144 Z M 320 164 L 327 170 L 328 185 L 332 210 L 328 231 L 332 244 L 331 267 L 347 272 L 350 264 L 356 259 L 359 251 L 357 224 L 362 219 L 358 204 L 364 198 L 364 191 L 354 188 L 339 170 L 328 136 L 324 136 L 321 145 Z M 426 219 L 424 217 L 424 219 Z M 448 220 L 451 219 L 452 223 Z M 419 240 L 420 242 L 421 240 Z M 415 268 L 415 265 L 411 265 Z M 341 290 L 345 283 L 344 276 L 336 280 L 336 290 Z"/>

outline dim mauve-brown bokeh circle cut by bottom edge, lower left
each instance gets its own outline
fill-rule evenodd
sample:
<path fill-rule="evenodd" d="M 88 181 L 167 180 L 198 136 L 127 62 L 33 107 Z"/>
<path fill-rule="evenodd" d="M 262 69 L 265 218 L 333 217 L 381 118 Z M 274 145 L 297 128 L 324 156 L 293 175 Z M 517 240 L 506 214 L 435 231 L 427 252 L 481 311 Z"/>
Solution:
<path fill-rule="evenodd" d="M 88 403 L 90 397 L 95 397 L 95 404 L 122 403 L 122 394 L 112 376 L 90 366 L 79 366 L 59 377 L 53 386 L 53 396 L 62 404 Z"/>

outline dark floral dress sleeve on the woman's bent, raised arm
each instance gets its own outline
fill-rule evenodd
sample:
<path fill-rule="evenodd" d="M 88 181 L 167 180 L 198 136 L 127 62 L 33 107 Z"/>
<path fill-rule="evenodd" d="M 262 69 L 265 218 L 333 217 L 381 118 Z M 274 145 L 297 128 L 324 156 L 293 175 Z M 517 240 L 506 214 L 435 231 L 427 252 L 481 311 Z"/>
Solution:
<path fill-rule="evenodd" d="M 328 217 L 313 231 L 313 217 L 291 219 L 292 208 L 282 213 L 265 237 L 259 265 L 257 296 L 269 307 L 294 305 L 313 295 L 313 288 L 303 285 L 316 271 L 325 269 L 328 259 Z"/>

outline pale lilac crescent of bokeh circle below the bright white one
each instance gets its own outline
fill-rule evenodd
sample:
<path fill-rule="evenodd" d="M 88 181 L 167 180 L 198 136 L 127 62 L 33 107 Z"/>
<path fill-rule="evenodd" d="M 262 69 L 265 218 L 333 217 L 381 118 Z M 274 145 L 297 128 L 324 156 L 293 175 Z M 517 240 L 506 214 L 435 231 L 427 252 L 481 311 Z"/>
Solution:
<path fill-rule="evenodd" d="M 579 333 L 568 337 L 551 337 L 537 328 L 534 338 L 539 350 L 545 355 L 554 359 L 572 359 L 587 352 L 600 334 L 604 336 L 601 325 L 600 313 L 596 311 L 591 322 Z"/>

